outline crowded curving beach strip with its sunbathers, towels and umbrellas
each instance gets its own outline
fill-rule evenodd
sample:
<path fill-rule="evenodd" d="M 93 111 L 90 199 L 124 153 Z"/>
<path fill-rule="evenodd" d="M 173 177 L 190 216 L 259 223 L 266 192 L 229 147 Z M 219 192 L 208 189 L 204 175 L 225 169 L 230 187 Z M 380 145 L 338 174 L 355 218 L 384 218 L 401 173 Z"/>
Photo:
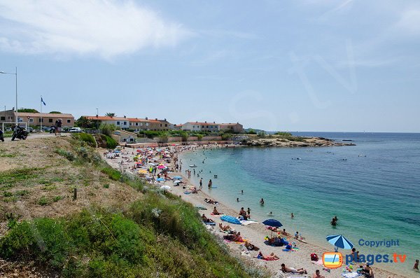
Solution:
<path fill-rule="evenodd" d="M 116 169 L 141 176 L 158 190 L 169 191 L 192 203 L 203 225 L 228 244 L 233 253 L 244 260 L 264 267 L 274 277 L 404 277 L 378 268 L 372 269 L 367 263 L 350 263 L 337 269 L 323 265 L 322 254 L 331 249 L 308 243 L 300 232 L 290 232 L 279 228 L 275 219 L 258 221 L 251 216 L 251 209 L 235 210 L 232 204 L 221 204 L 211 197 L 211 179 L 200 178 L 202 170 L 197 165 L 186 165 L 180 154 L 186 151 L 209 151 L 212 148 L 227 148 L 227 145 L 177 145 L 161 147 L 125 148 L 118 146 L 113 151 L 104 151 L 107 162 Z M 203 161 L 204 164 L 204 161 Z M 200 166 L 200 169 L 202 167 Z M 198 184 L 190 181 L 191 176 L 200 179 Z M 214 173 L 214 179 L 218 176 Z M 209 190 L 203 189 L 203 183 Z M 260 200 L 264 204 L 264 200 Z M 272 213 L 270 213 L 272 214 Z M 268 216 L 270 216 L 270 214 Z M 295 217 L 293 214 L 290 217 Z M 337 217 L 332 219 L 337 224 Z M 264 225 L 265 224 L 265 225 Z M 351 251 L 356 256 L 356 249 Z M 391 275 L 391 276 L 390 276 Z"/>

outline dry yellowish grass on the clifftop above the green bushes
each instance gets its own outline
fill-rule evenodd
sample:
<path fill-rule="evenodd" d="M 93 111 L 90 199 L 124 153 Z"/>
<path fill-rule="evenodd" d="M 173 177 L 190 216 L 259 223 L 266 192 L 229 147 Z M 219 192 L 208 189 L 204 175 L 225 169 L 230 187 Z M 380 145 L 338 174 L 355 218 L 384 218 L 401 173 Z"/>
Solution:
<path fill-rule="evenodd" d="M 141 197 L 92 165 L 77 165 L 55 153 L 57 148 L 72 151 L 70 140 L 51 137 L 1 144 L 0 222 L 10 214 L 23 219 L 59 217 L 92 204 L 124 208 Z M 77 200 L 73 188 L 78 188 Z"/>

